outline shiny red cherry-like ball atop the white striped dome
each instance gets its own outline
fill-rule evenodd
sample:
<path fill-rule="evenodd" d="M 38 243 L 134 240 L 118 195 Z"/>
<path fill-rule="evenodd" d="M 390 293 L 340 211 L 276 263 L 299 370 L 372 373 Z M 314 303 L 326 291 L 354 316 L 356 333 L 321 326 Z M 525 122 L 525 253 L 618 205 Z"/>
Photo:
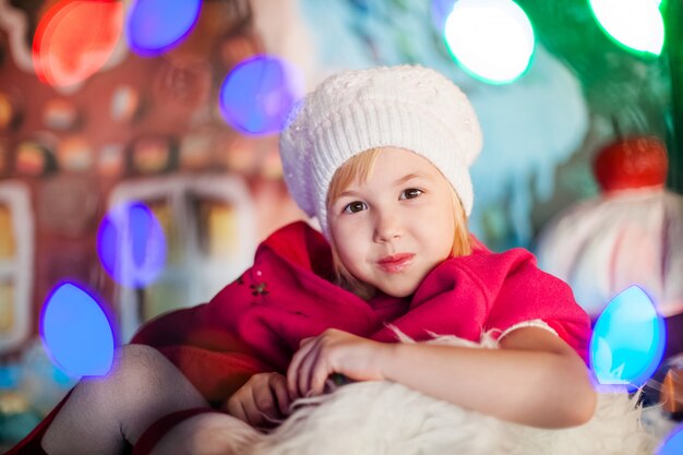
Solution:
<path fill-rule="evenodd" d="M 663 187 L 668 169 L 667 147 L 655 136 L 620 139 L 598 152 L 592 166 L 594 175 L 606 193 Z"/>

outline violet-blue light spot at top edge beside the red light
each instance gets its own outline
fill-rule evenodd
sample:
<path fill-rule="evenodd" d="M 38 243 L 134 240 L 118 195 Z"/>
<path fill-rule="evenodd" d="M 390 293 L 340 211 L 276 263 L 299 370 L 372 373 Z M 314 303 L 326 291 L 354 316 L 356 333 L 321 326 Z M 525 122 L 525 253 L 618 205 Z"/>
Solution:
<path fill-rule="evenodd" d="M 125 21 L 128 44 L 141 56 L 163 53 L 182 43 L 201 9 L 202 0 L 135 0 Z"/>

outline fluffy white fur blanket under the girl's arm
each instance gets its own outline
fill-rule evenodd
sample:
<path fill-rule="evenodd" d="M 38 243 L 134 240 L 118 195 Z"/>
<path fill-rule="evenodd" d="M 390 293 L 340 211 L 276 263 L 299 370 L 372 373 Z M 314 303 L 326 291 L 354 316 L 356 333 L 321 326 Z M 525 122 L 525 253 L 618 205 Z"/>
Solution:
<path fill-rule="evenodd" d="M 404 342 L 410 343 L 410 340 Z M 469 344 L 453 337 L 433 343 Z M 493 347 L 490 338 L 480 347 Z M 402 384 L 363 382 L 297 402 L 274 432 L 243 434 L 250 455 L 651 455 L 658 440 L 635 397 L 600 393 L 584 426 L 543 430 L 434 399 Z"/>

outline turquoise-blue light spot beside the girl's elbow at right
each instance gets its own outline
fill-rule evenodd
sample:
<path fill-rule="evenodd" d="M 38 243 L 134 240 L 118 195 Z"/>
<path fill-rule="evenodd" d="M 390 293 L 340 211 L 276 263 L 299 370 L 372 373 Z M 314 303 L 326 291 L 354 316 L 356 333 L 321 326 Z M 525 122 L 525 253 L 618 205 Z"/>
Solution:
<path fill-rule="evenodd" d="M 664 344 L 662 318 L 647 294 L 632 286 L 598 318 L 590 339 L 590 367 L 598 383 L 634 391 L 659 367 Z"/>

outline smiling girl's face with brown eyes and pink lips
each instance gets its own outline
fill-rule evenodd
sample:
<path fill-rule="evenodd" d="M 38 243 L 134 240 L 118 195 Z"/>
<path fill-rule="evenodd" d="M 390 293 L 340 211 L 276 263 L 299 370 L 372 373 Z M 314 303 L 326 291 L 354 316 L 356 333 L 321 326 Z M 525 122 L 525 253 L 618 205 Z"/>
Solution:
<path fill-rule="evenodd" d="M 430 161 L 383 147 L 368 180 L 351 182 L 327 216 L 337 255 L 351 275 L 406 297 L 451 255 L 453 207 L 450 183 Z"/>

